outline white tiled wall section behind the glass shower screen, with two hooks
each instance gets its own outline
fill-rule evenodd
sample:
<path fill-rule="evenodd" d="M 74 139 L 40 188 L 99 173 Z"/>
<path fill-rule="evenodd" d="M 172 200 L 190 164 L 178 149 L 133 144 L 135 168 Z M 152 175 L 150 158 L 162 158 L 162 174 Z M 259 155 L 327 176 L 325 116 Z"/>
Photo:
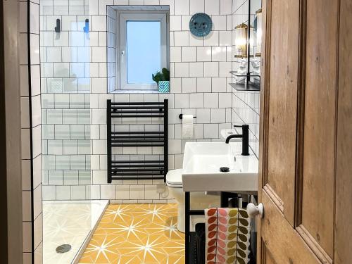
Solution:
<path fill-rule="evenodd" d="M 42 169 L 46 200 L 89 199 L 92 193 L 87 188 L 92 183 L 89 93 L 99 89 L 106 92 L 106 79 L 99 77 L 100 73 L 106 77 L 107 35 L 105 16 L 103 20 L 86 15 L 86 4 L 40 2 Z M 60 33 L 54 30 L 56 19 L 61 20 Z M 85 33 L 86 19 L 90 30 L 103 32 Z M 90 25 L 92 20 L 94 27 Z M 93 57 L 96 63 L 91 63 Z"/>

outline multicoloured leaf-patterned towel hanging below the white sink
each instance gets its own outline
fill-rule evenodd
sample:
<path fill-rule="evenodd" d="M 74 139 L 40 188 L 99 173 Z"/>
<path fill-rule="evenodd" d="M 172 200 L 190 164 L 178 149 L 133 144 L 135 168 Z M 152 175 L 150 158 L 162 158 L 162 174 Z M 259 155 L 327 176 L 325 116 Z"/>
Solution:
<path fill-rule="evenodd" d="M 206 264 L 249 263 L 251 221 L 242 208 L 208 208 Z"/>

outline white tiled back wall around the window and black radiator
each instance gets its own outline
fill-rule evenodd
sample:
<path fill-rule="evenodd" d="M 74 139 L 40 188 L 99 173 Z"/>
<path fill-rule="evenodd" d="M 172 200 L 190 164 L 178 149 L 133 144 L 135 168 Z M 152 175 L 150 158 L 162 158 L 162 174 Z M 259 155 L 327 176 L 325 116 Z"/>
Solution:
<path fill-rule="evenodd" d="M 185 142 L 218 141 L 220 130 L 232 124 L 232 88 L 227 84 L 232 69 L 231 0 L 40 3 L 43 198 L 170 201 L 156 192 L 157 181 L 106 183 L 106 99 L 169 99 L 169 169 L 182 168 Z M 108 93 L 116 89 L 115 12 L 109 5 L 118 4 L 170 6 L 170 94 Z M 194 37 L 189 19 L 205 10 L 213 19 L 213 32 Z M 54 32 L 56 19 L 62 21 L 60 34 Z M 86 19 L 89 34 L 83 32 Z M 180 113 L 197 116 L 191 139 L 182 139 Z M 130 128 L 144 130 L 141 123 Z M 156 127 L 155 120 L 150 125 Z M 124 151 L 158 155 L 161 150 Z"/>

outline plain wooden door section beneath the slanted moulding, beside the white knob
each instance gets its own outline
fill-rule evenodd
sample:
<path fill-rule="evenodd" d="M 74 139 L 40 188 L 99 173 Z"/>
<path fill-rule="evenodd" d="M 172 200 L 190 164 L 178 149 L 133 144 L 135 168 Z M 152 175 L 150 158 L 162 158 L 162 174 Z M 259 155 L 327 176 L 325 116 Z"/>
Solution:
<path fill-rule="evenodd" d="M 265 216 L 260 223 L 261 237 L 265 244 L 262 248 L 268 251 L 263 255 L 268 256 L 269 253 L 272 260 L 279 264 L 320 263 L 298 232 L 284 218 L 266 191 L 262 191 L 262 203 L 265 206 Z M 262 259 L 261 263 L 265 263 L 265 259 Z"/>

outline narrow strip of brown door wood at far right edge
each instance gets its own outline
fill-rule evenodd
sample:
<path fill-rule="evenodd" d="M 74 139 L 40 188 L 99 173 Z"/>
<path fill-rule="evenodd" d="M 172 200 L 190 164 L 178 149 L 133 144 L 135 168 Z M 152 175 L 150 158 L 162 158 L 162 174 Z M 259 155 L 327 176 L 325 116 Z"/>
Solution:
<path fill-rule="evenodd" d="M 335 192 L 334 206 L 334 263 L 343 264 L 352 258 L 351 244 L 348 243 L 352 238 L 352 3 L 350 0 L 340 0 L 339 4 L 335 163 L 335 187 L 338 191 Z"/>

